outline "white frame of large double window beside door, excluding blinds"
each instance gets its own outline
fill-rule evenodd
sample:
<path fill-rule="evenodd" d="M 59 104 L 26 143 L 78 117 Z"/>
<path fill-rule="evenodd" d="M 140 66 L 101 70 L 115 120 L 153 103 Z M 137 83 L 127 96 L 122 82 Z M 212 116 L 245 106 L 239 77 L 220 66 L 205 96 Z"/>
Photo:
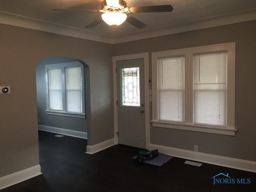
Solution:
<path fill-rule="evenodd" d="M 194 54 L 208 52 L 228 52 L 227 63 L 227 126 L 215 127 L 193 124 L 193 56 Z M 224 134 L 234 136 L 235 132 L 235 42 L 152 52 L 152 126 L 161 128 L 171 128 L 189 130 L 196 132 L 207 132 L 214 134 Z M 177 55 L 185 56 L 184 82 L 185 82 L 185 121 L 184 123 L 174 123 L 158 120 L 158 96 L 157 96 L 157 59 L 172 57 Z"/>

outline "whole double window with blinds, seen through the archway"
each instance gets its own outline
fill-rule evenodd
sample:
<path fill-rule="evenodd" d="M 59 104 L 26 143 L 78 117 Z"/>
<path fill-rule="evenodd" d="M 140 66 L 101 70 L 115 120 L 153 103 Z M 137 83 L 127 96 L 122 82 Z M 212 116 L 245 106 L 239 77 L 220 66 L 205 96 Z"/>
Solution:
<path fill-rule="evenodd" d="M 80 62 L 45 66 L 47 114 L 85 118 L 84 66 Z"/>

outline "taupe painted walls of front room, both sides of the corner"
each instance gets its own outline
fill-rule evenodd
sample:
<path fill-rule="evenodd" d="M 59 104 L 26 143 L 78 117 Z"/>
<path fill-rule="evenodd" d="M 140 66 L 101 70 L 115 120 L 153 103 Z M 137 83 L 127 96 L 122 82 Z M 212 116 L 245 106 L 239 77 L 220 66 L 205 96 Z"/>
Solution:
<path fill-rule="evenodd" d="M 112 56 L 225 42 L 236 42 L 236 136 L 151 128 L 151 142 L 186 150 L 197 144 L 200 152 L 256 161 L 255 34 L 251 21 L 110 45 L 0 24 L 0 85 L 11 87 L 0 95 L 0 177 L 38 164 L 36 64 L 44 58 L 88 64 L 88 144 L 94 145 L 114 137 Z"/>

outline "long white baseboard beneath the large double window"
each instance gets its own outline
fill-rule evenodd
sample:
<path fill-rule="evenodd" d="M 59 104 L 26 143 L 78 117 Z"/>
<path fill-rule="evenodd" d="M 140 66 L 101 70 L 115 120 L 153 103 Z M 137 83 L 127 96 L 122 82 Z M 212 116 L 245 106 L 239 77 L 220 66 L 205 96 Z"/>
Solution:
<path fill-rule="evenodd" d="M 172 147 L 166 147 L 166 146 L 160 146 L 155 144 L 150 144 L 150 150 L 158 149 L 159 152 L 172 155 L 179 158 L 184 158 L 188 160 L 194 160 L 199 162 L 204 162 L 208 164 L 214 164 L 218 166 L 224 166 L 244 171 L 250 171 L 250 172 L 256 172 L 256 162 L 254 161 L 248 161 L 248 160 L 242 160 L 242 159 L 236 159 L 236 158 L 230 158 L 230 157 L 224 157 L 224 156 L 218 156 L 218 155 L 212 155 L 212 154 L 206 154 L 206 153 L 200 153 L 200 152 L 194 152 L 184 149 L 178 149 L 178 148 L 172 148 Z"/>

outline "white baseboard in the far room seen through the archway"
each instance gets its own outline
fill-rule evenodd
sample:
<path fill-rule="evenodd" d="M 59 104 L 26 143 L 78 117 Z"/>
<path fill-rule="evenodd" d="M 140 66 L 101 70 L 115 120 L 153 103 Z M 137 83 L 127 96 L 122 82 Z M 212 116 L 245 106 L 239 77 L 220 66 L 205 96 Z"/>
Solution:
<path fill-rule="evenodd" d="M 74 131 L 74 130 L 63 129 L 58 127 L 50 127 L 45 125 L 38 125 L 38 130 L 87 139 L 87 133 L 81 132 L 81 131 Z"/>

